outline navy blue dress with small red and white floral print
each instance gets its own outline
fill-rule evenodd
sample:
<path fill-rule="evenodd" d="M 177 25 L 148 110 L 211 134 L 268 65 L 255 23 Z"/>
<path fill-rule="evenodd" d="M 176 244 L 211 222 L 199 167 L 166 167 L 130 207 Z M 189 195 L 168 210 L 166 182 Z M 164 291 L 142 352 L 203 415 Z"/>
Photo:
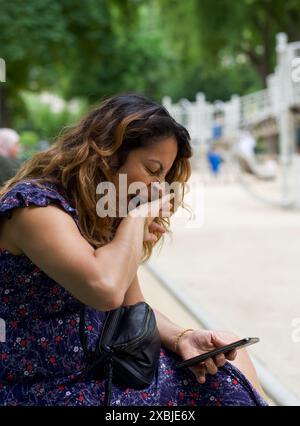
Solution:
<path fill-rule="evenodd" d="M 77 210 L 63 189 L 23 180 L 0 199 L 0 217 L 14 208 L 55 203 L 74 219 Z M 45 253 L 45 256 L 48 254 Z M 104 379 L 78 375 L 86 361 L 80 344 L 82 303 L 25 254 L 0 249 L 0 405 L 101 406 Z M 85 332 L 92 347 L 106 312 L 86 307 Z M 143 390 L 112 386 L 111 405 L 268 405 L 246 377 L 227 362 L 199 384 L 189 369 L 176 370 L 179 356 L 161 347 L 155 377 Z"/>

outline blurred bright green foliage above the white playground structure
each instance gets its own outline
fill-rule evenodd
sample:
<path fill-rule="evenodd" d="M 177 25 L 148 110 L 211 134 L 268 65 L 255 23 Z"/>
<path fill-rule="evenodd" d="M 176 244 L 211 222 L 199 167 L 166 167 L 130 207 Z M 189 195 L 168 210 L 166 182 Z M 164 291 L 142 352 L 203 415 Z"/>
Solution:
<path fill-rule="evenodd" d="M 165 18 L 166 33 L 175 40 L 172 44 L 186 69 L 193 74 L 205 67 L 204 74 L 212 73 L 210 80 L 221 93 L 226 87 L 213 77 L 218 74 L 233 84 L 237 78 L 234 92 L 265 84 L 275 65 L 276 33 L 283 31 L 290 41 L 300 40 L 299 0 L 156 1 Z M 231 66 L 223 66 L 229 62 Z"/>

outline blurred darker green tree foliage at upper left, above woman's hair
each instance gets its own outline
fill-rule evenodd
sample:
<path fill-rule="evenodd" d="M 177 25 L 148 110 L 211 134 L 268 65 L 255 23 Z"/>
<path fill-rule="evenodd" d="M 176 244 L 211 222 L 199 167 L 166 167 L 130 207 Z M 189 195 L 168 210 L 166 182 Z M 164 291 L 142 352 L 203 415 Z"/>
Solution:
<path fill-rule="evenodd" d="M 7 63 L 0 125 L 11 124 L 12 111 L 14 119 L 24 115 L 23 90 L 92 103 L 127 90 L 160 99 L 168 55 L 145 7 L 137 0 L 0 0 L 0 57 Z"/>

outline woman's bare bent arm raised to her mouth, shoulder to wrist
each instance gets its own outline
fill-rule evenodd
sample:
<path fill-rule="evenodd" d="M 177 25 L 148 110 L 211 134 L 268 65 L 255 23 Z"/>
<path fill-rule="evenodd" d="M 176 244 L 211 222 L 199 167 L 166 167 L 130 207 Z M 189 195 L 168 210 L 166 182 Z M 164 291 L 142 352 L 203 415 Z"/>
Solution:
<path fill-rule="evenodd" d="M 94 249 L 56 205 L 13 211 L 10 240 L 49 277 L 95 309 L 123 303 L 141 261 L 143 217 L 127 216 L 112 242 Z"/>

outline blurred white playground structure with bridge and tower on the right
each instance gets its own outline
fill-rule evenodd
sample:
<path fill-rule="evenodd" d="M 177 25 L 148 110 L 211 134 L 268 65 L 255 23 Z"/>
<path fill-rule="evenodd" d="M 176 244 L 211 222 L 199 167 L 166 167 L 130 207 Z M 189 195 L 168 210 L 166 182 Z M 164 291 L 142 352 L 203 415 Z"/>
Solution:
<path fill-rule="evenodd" d="M 247 129 L 255 138 L 267 140 L 271 153 L 278 155 L 280 195 L 265 200 L 282 207 L 300 208 L 300 148 L 296 142 L 300 129 L 300 42 L 288 43 L 285 33 L 277 34 L 276 41 L 277 64 L 264 90 L 233 95 L 228 102 L 210 103 L 203 93 L 197 93 L 195 102 L 182 99 L 172 104 L 171 98 L 165 96 L 162 103 L 189 130 L 196 159 L 205 152 L 212 138 L 216 114 L 222 115 L 222 141 L 229 152 L 227 158 L 258 179 L 272 176 L 267 176 L 261 165 L 253 161 L 251 164 L 238 155 L 240 131 Z M 240 174 L 240 179 L 247 187 L 244 174 Z M 248 189 L 253 192 L 249 186 Z"/>

